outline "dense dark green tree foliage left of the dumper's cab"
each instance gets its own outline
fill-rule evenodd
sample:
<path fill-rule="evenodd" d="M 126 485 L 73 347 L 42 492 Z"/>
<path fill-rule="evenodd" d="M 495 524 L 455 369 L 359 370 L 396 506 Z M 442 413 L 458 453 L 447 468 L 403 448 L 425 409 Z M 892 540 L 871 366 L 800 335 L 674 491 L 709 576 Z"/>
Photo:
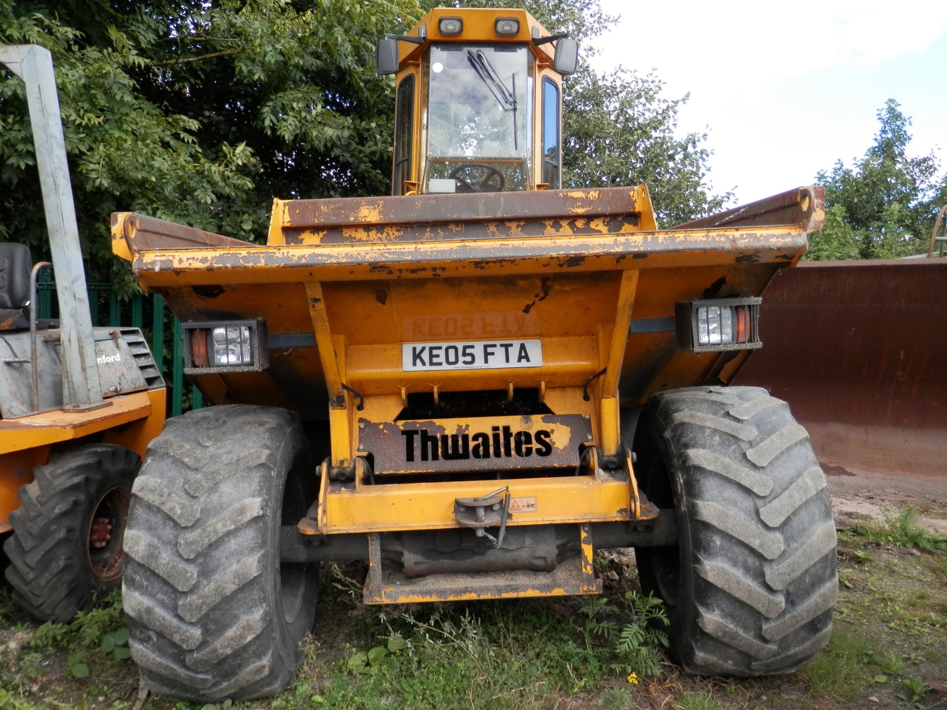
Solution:
<path fill-rule="evenodd" d="M 418 15 L 414 0 L 0 0 L 0 44 L 53 53 L 80 234 L 107 280 L 116 210 L 252 240 L 275 196 L 384 192 L 393 100 L 374 43 Z M 41 255 L 42 215 L 24 86 L 2 70 L 0 239 Z"/>

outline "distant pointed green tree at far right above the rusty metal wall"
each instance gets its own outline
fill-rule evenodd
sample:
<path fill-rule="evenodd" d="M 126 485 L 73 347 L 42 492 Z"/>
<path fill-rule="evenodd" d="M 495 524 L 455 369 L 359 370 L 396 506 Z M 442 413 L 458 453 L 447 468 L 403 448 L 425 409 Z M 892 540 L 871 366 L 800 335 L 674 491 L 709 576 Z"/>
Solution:
<path fill-rule="evenodd" d="M 826 225 L 810 237 L 806 258 L 893 258 L 927 248 L 947 172 L 935 153 L 912 157 L 911 119 L 893 98 L 878 111 L 875 141 L 851 167 L 841 160 L 815 180 L 826 189 Z"/>

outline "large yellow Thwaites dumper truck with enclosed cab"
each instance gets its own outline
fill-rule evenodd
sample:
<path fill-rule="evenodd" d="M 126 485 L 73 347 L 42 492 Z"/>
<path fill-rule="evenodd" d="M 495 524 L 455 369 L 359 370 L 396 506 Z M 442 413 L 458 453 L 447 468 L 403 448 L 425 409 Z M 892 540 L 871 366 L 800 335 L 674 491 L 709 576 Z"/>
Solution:
<path fill-rule="evenodd" d="M 368 604 L 594 595 L 595 549 L 634 546 L 688 672 L 825 644 L 825 478 L 785 402 L 726 386 L 821 189 L 668 230 L 644 186 L 560 189 L 576 52 L 523 10 L 433 10 L 378 46 L 392 196 L 276 200 L 265 246 L 113 217 L 216 404 L 134 483 L 124 604 L 154 690 L 290 683 L 322 560 L 365 559 Z"/>

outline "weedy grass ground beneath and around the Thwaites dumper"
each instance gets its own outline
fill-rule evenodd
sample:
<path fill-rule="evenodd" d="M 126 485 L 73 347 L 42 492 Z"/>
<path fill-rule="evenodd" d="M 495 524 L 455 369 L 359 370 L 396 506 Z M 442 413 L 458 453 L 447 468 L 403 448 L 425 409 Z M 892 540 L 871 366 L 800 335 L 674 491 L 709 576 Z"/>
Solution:
<path fill-rule="evenodd" d="M 810 666 L 790 676 L 725 681 L 687 678 L 663 660 L 659 637 L 647 633 L 663 626 L 641 623 L 654 610 L 620 560 L 597 560 L 609 573 L 604 597 L 381 608 L 360 601 L 364 565 L 326 565 L 316 627 L 295 683 L 275 698 L 233 707 L 861 710 L 930 704 L 933 694 L 904 682 L 947 675 L 947 589 L 939 581 L 947 552 L 919 556 L 893 542 L 840 536 L 847 584 L 829 645 Z M 131 710 L 137 671 L 116 661 L 114 648 L 102 650 L 124 624 L 117 597 L 109 602 L 71 624 L 35 626 L 24 623 L 0 588 L 0 650 L 17 640 L 14 664 L 0 653 L 0 708 Z M 634 648 L 646 636 L 641 657 Z M 76 664 L 69 657 L 77 652 L 86 654 L 79 662 L 87 666 L 86 678 L 71 670 Z M 649 663 L 659 676 L 645 672 Z M 634 682 L 628 680 L 633 671 Z M 868 701 L 872 696 L 881 704 Z M 144 710 L 204 707 L 151 696 Z M 212 707 L 223 710 L 223 704 Z"/>

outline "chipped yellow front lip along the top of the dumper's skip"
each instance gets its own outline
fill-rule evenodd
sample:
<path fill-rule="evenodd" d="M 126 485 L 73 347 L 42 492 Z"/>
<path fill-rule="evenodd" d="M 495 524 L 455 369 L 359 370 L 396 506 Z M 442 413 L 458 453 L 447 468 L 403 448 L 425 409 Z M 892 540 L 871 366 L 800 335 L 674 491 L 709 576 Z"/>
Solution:
<path fill-rule="evenodd" d="M 495 227 L 488 225 L 495 233 Z M 805 250 L 805 234 L 784 227 L 757 227 L 730 237 L 706 231 L 635 232 L 579 235 L 564 238 L 531 237 L 509 240 L 492 237 L 476 241 L 427 240 L 377 244 L 305 244 L 226 249 L 175 249 L 134 252 L 134 270 L 143 286 L 176 286 L 187 274 L 188 284 L 293 282 L 312 272 L 320 280 L 365 280 L 381 275 L 429 278 L 441 276 L 536 274 L 567 265 L 570 271 L 668 269 L 722 266 L 742 269 L 738 258 L 759 263 L 787 263 Z M 640 253 L 647 258 L 616 260 Z M 380 271 L 382 270 L 382 271 Z M 222 276 L 225 273 L 225 276 Z"/>

